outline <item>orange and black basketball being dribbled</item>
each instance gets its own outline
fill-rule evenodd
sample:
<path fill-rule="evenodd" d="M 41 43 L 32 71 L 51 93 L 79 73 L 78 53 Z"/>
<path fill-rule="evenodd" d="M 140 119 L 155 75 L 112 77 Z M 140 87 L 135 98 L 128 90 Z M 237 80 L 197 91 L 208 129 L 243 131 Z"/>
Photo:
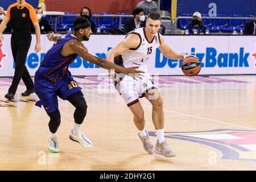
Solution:
<path fill-rule="evenodd" d="M 201 70 L 200 61 L 193 56 L 186 57 L 181 64 L 181 69 L 186 76 L 195 76 Z"/>

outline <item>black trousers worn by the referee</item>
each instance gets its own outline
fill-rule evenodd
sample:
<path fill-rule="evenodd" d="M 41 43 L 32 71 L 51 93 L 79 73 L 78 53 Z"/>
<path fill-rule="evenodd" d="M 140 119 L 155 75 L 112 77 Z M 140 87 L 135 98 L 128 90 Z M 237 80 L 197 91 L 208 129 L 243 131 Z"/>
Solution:
<path fill-rule="evenodd" d="M 27 71 L 25 61 L 27 57 L 28 49 L 31 44 L 30 32 L 13 32 L 11 34 L 11 51 L 13 52 L 13 58 L 15 61 L 15 72 L 13 82 L 9 88 L 9 93 L 16 93 L 19 85 L 20 78 L 22 78 L 27 89 L 33 89 L 34 83 L 30 77 L 30 73 Z"/>

